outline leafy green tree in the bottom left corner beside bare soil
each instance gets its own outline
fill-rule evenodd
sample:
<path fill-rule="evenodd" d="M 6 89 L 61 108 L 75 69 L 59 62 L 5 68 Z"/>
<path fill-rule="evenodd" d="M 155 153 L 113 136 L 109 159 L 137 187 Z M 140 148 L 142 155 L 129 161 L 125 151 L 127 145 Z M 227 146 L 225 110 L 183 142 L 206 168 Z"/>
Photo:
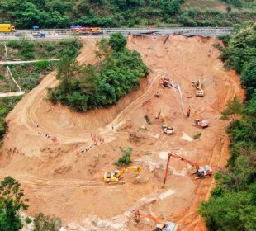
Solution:
<path fill-rule="evenodd" d="M 19 210 L 26 210 L 28 199 L 23 199 L 24 191 L 20 183 L 12 177 L 6 177 L 0 185 L 0 227 L 1 231 L 21 229 Z"/>

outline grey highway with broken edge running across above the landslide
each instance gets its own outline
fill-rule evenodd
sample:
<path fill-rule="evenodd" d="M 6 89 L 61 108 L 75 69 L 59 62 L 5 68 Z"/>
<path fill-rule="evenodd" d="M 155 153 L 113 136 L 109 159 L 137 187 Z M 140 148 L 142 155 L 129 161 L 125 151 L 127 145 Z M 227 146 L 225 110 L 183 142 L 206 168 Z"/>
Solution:
<path fill-rule="evenodd" d="M 19 40 L 20 38 L 26 38 L 29 40 L 69 40 L 73 39 L 75 35 L 74 31 L 69 29 L 43 29 L 45 32 L 45 38 L 34 38 L 33 34 L 37 31 L 33 30 L 17 30 L 13 33 L 0 32 L 0 40 Z M 121 32 L 123 35 L 186 35 L 194 36 L 200 35 L 204 37 L 227 35 L 233 32 L 232 27 L 166 27 L 166 28 L 102 28 L 102 37 L 108 37 L 112 33 Z M 79 36 L 80 39 L 86 39 L 88 35 Z M 94 37 L 94 36 L 90 36 Z M 95 36 L 98 37 L 98 36 Z"/>

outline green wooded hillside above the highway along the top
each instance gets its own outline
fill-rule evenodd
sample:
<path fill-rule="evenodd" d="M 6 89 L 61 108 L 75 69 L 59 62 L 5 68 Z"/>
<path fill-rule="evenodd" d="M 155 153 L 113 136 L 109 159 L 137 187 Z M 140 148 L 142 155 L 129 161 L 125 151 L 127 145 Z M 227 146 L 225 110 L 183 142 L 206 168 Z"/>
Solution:
<path fill-rule="evenodd" d="M 233 26 L 256 20 L 247 0 L 2 0 L 0 22 L 17 29 L 82 26 Z"/>

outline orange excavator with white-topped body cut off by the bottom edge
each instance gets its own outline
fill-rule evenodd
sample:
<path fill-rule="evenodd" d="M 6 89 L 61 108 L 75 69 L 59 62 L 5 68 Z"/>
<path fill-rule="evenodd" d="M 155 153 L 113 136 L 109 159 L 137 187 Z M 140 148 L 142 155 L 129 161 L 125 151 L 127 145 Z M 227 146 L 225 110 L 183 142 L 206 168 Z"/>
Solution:
<path fill-rule="evenodd" d="M 151 214 L 146 214 L 140 212 L 139 210 L 135 211 L 135 224 L 140 222 L 140 217 L 144 216 L 148 219 L 153 219 L 156 223 L 156 226 L 153 231 L 178 231 L 178 224 L 174 222 L 162 222 L 160 219 Z"/>

